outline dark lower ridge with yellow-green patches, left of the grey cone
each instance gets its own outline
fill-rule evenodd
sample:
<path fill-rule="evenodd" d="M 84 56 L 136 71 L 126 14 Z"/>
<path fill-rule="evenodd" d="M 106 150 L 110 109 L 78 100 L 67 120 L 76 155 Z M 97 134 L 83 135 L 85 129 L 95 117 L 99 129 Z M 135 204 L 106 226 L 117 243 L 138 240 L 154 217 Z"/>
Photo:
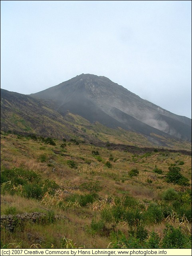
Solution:
<path fill-rule="evenodd" d="M 84 140 L 100 142 L 87 136 L 73 125 L 73 119 L 66 113 L 63 117 L 48 108 L 40 100 L 1 89 L 1 130 L 19 133 L 34 133 L 38 136 L 70 139 L 74 134 L 83 134 Z"/>

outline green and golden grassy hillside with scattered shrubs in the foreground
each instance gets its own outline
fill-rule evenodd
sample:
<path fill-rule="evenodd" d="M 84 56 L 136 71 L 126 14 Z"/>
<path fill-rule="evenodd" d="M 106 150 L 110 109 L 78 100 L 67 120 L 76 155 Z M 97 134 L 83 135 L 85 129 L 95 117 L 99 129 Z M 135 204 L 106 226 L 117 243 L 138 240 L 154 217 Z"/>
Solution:
<path fill-rule="evenodd" d="M 104 144 L 145 140 L 67 118 Z M 18 221 L 25 212 L 45 215 Z M 9 214 L 1 248 L 191 248 L 191 156 L 2 132 L 1 215 Z"/>

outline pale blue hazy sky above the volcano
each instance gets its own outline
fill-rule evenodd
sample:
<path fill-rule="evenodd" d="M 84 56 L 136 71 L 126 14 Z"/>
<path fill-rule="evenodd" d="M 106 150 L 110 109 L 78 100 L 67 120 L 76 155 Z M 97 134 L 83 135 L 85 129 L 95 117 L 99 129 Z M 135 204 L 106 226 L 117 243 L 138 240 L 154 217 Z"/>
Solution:
<path fill-rule="evenodd" d="M 191 118 L 191 1 L 1 1 L 1 88 L 106 76 Z"/>

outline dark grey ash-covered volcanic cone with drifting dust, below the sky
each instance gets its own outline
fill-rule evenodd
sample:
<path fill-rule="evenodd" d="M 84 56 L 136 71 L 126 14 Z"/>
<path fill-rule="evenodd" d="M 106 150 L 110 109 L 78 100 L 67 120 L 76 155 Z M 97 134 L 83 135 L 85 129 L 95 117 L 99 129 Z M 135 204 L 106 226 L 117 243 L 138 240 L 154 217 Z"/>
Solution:
<path fill-rule="evenodd" d="M 81 74 L 30 96 L 46 100 L 60 114 L 69 110 L 105 126 L 191 141 L 190 118 L 143 100 L 105 76 Z"/>

